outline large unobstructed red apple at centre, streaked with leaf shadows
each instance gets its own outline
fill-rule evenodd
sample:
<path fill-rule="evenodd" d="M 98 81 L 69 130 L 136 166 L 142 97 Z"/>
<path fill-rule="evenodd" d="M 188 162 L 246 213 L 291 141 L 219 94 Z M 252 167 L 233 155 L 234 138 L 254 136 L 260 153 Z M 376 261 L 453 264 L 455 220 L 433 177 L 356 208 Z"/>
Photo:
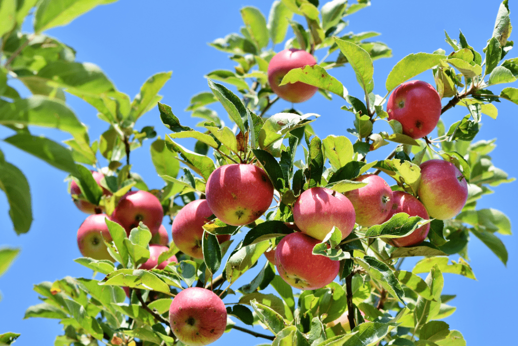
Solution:
<path fill-rule="evenodd" d="M 263 215 L 274 198 L 274 185 L 266 172 L 250 164 L 216 168 L 207 179 L 207 203 L 218 219 L 243 226 Z"/>

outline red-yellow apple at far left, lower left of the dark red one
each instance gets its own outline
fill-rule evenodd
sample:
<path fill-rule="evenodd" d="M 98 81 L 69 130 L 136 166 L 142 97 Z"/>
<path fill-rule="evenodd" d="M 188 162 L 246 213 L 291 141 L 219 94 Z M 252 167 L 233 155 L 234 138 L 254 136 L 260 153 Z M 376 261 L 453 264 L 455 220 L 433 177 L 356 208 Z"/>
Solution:
<path fill-rule="evenodd" d="M 85 257 L 98 260 L 108 259 L 109 261 L 115 262 L 113 257 L 108 253 L 106 244 L 103 242 L 103 238 L 106 241 L 111 241 L 110 231 L 108 230 L 105 219 L 118 223 L 116 219 L 110 218 L 106 214 L 89 215 L 77 231 L 77 246 L 81 254 Z"/>

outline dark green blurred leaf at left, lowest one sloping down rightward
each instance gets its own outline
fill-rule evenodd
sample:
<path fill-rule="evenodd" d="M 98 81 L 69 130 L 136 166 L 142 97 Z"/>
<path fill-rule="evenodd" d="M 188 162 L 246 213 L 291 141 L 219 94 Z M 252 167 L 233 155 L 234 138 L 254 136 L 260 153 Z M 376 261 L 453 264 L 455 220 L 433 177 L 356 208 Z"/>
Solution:
<path fill-rule="evenodd" d="M 20 133 L 8 137 L 4 141 L 40 158 L 57 169 L 70 174 L 77 174 L 71 151 L 52 139 Z"/>

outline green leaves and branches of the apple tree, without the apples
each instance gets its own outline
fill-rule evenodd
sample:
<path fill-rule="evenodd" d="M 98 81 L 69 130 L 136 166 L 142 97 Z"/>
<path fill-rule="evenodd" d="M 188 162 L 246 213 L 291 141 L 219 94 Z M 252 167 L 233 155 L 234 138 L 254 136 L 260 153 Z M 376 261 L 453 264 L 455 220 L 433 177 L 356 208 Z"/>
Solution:
<path fill-rule="evenodd" d="M 506 264 L 508 253 L 498 235 L 511 234 L 509 219 L 502 212 L 477 209 L 477 201 L 492 193 L 492 186 L 513 179 L 492 164 L 494 140 L 474 141 L 482 114 L 496 118 L 495 104 L 502 98 L 518 104 L 518 89 L 508 87 L 500 94 L 488 89 L 514 82 L 518 77 L 518 58 L 506 59 L 513 46 L 509 40 L 507 0 L 499 8 L 493 35 L 481 53 L 469 46 L 462 33 L 458 41 L 446 34 L 451 52 L 437 50 L 406 56 L 387 77 L 384 96 L 372 92 L 373 61 L 391 56 L 391 49 L 382 42 L 368 41 L 379 35 L 375 32 L 342 33 L 347 27 L 344 18 L 369 6 L 369 1 L 348 4 L 334 0 L 319 9 L 317 0 L 277 0 L 268 19 L 258 9 L 244 7 L 240 34 L 230 34 L 210 44 L 230 54 L 237 65 L 234 71 L 207 73 L 209 91 L 191 98 L 187 109 L 193 117 L 202 119 L 197 125 L 200 129 L 182 125 L 171 108 L 160 103 L 157 93 L 170 78 L 170 72 L 150 77 L 131 99 L 118 91 L 99 67 L 75 61 L 74 49 L 43 34 L 99 3 L 110 2 L 0 2 L 0 18 L 6 19 L 0 23 L 0 124 L 16 132 L 4 141 L 69 174 L 84 198 L 104 206 L 108 214 L 124 193 L 136 188 L 157 195 L 165 214 L 172 217 L 204 194 L 207 178 L 215 168 L 236 162 L 254 163 L 265 169 L 274 183 L 276 206 L 264 219 L 247 226 L 229 226 L 219 220 L 207 224 L 203 261 L 178 253 L 171 243 L 159 263 L 175 253 L 179 263 L 171 263 L 163 270 L 135 269 L 149 258 L 147 229 L 138 227 L 127 238 L 121 226 L 108 222 L 113 239 L 109 250 L 117 264 L 76 259 L 105 277 L 66 277 L 35 285 L 42 303 L 28 308 L 25 318 L 60 320 L 64 335 L 56 338 L 56 345 L 91 345 L 97 344 L 97 340 L 114 345 L 180 344 L 168 326 L 168 309 L 172 296 L 196 285 L 212 289 L 222 298 L 235 295 L 233 301 L 237 299 L 238 304 L 227 308 L 231 319 L 262 325 L 271 334 L 259 335 L 237 327 L 231 319 L 227 330 L 255 333 L 274 345 L 465 345 L 459 331 L 450 330 L 447 323 L 439 321 L 455 311 L 448 305 L 454 296 L 442 293 L 443 273 L 475 278 L 465 261 L 469 234 L 479 238 Z M 21 24 L 33 8 L 34 33 L 22 33 Z M 306 25 L 294 18 L 304 19 Z M 285 40 L 289 28 L 294 36 Z M 310 124 L 318 114 L 302 114 L 292 108 L 265 116 L 278 100 L 268 85 L 268 61 L 275 54 L 268 45 L 284 41 L 286 48 L 311 53 L 325 51 L 325 58 L 318 65 L 290 71 L 283 83 L 303 81 L 318 86 L 328 99 L 337 95 L 346 100 L 348 105 L 342 109 L 353 113 L 353 127 L 348 131 L 357 138 L 354 143 L 343 135 L 323 139 L 314 135 Z M 329 74 L 344 65 L 354 70 L 364 95 L 349 95 L 343 83 Z M 440 96 L 450 98 L 443 112 L 458 105 L 466 107 L 469 114 L 448 129 L 440 122 L 437 138 L 414 140 L 402 134 L 397 121 L 389 122 L 392 133 L 376 132 L 377 122 L 387 121 L 383 103 L 389 93 L 424 71 L 433 73 Z M 14 79 L 22 82 L 32 95 L 22 98 L 10 86 L 9 81 Z M 108 129 L 98 139 L 91 141 L 85 125 L 67 107 L 65 92 L 95 107 L 99 119 L 107 122 Z M 225 126 L 224 120 L 210 108 L 214 103 L 223 106 L 230 126 Z M 144 140 L 156 137 L 150 126 L 135 128 L 142 114 L 155 105 L 171 133 L 151 143 L 152 162 L 164 186 L 150 189 L 132 172 L 130 154 Z M 34 134 L 34 126 L 60 129 L 72 138 L 59 143 Z M 196 140 L 193 150 L 180 144 L 183 138 Z M 392 154 L 384 160 L 371 159 L 375 155 L 372 152 L 385 145 L 394 146 Z M 113 193 L 109 197 L 103 196 L 87 168 L 100 168 L 97 153 L 107 162 L 102 165 L 106 175 L 102 185 Z M 393 190 L 415 194 L 420 180 L 419 164 L 437 157 L 462 170 L 469 182 L 469 196 L 465 208 L 454 219 L 431 221 L 428 241 L 410 248 L 389 246 L 383 239 L 408 235 L 426 222 L 396 214 L 382 225 L 358 226 L 343 241 L 334 230 L 314 248 L 313 253 L 341 262 L 340 280 L 322 289 L 294 292 L 269 262 L 256 269 L 257 275 L 251 282 L 230 288 L 256 265 L 266 250 L 292 232 L 284 222 L 293 221 L 291 206 L 301 191 L 313 186 L 326 186 L 340 193 L 354 190 L 362 184 L 352 180 L 370 170 L 394 178 Z M 31 210 L 28 183 L 16 166 L 5 161 L 3 154 L 0 165 L 0 188 L 7 195 L 14 229 L 25 233 L 32 222 L 31 213 L 27 212 Z M 232 242 L 220 245 L 215 238 L 218 234 L 241 233 L 246 233 L 243 240 L 231 251 Z M 12 249 L 0 250 L 0 274 L 16 253 Z M 460 256 L 456 262 L 447 257 L 454 254 Z M 410 256 L 423 259 L 411 271 L 400 270 L 402 260 Z M 223 289 L 225 282 L 228 286 Z M 129 302 L 122 286 L 132 289 Z M 355 316 L 355 321 L 350 321 L 352 331 L 344 330 L 340 324 L 327 327 L 328 322 L 344 312 Z M 10 344 L 17 337 L 14 333 L 2 334 L 0 344 Z"/>

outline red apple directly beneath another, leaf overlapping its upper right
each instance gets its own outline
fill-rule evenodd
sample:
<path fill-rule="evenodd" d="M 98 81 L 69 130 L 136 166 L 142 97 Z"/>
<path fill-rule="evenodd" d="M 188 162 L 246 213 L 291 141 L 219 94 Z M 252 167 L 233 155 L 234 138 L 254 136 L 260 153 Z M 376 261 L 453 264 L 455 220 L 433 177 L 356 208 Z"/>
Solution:
<path fill-rule="evenodd" d="M 302 233 L 290 233 L 275 249 L 275 265 L 280 277 L 300 290 L 316 290 L 335 280 L 340 262 L 313 255 L 313 247 L 320 241 Z"/>

